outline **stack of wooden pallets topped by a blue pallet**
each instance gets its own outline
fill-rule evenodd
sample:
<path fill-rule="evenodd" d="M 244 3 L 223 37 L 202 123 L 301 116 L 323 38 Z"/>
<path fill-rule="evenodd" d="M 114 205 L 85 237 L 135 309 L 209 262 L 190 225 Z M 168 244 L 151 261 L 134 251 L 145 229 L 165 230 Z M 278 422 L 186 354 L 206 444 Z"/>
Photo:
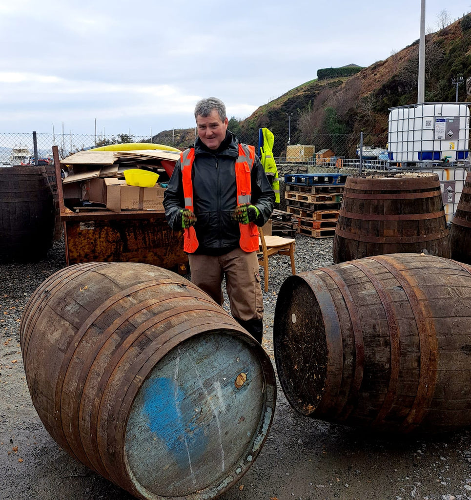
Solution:
<path fill-rule="evenodd" d="M 346 177 L 339 173 L 284 176 L 286 210 L 298 217 L 298 233 L 314 238 L 333 237 Z"/>

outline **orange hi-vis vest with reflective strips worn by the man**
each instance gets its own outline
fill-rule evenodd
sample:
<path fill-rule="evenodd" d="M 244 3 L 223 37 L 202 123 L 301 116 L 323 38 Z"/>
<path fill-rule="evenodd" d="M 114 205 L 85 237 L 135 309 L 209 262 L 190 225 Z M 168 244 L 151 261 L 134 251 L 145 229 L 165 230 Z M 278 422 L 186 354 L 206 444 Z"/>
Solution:
<path fill-rule="evenodd" d="M 239 143 L 239 155 L 235 160 L 235 183 L 237 185 L 237 205 L 250 203 L 252 195 L 250 172 L 255 160 L 255 148 Z M 193 209 L 193 182 L 191 180 L 191 169 L 194 161 L 194 148 L 185 149 L 180 153 L 181 176 L 183 183 L 183 196 L 185 208 L 194 212 Z M 258 250 L 258 229 L 253 222 L 240 224 L 240 248 L 250 252 Z M 193 253 L 198 247 L 198 239 L 194 227 L 187 227 L 183 231 L 183 250 Z"/>

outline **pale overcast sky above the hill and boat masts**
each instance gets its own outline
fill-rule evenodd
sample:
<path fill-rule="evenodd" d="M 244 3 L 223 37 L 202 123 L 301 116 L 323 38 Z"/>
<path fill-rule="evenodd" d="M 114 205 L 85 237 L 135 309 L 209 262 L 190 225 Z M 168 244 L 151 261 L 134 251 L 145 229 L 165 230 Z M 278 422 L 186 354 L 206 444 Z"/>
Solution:
<path fill-rule="evenodd" d="M 425 25 L 471 1 L 426 0 Z M 420 0 L 0 0 L 0 133 L 135 136 L 228 116 L 316 78 L 368 66 L 419 37 Z M 465 75 L 466 76 L 466 75 Z M 451 84 L 451 83 L 450 83 Z"/>

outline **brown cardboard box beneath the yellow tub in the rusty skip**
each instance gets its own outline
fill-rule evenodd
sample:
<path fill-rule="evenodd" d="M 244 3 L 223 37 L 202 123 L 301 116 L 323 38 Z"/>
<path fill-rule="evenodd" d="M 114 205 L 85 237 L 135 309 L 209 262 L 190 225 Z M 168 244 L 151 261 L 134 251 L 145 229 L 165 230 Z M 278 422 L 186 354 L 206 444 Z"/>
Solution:
<path fill-rule="evenodd" d="M 106 185 L 106 208 L 114 212 L 121 210 L 163 210 L 163 192 L 160 186 L 129 186 L 125 180 L 104 179 Z"/>

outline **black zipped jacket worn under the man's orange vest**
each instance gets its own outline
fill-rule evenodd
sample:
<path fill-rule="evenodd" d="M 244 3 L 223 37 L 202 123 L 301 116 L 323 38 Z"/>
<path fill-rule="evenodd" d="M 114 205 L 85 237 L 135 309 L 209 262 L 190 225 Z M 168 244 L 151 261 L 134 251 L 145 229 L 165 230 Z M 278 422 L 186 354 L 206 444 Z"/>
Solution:
<path fill-rule="evenodd" d="M 199 138 L 194 142 L 191 178 L 197 218 L 194 228 L 199 243 L 195 253 L 222 254 L 239 246 L 239 225 L 232 218 L 237 199 L 235 160 L 238 143 L 239 140 L 228 130 L 217 151 L 208 149 Z M 261 226 L 273 211 L 275 195 L 256 155 L 251 170 L 251 188 L 251 204 L 260 210 L 255 223 Z M 181 229 L 177 214 L 185 205 L 180 160 L 176 162 L 164 192 L 163 206 L 170 227 Z"/>

